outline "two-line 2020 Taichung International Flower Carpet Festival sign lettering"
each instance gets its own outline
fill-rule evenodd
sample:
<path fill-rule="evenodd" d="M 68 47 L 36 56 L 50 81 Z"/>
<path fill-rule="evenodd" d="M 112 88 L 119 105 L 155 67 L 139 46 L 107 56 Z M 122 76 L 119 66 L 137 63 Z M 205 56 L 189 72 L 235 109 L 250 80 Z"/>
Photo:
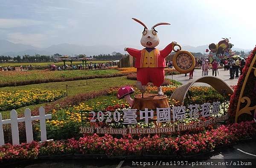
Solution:
<path fill-rule="evenodd" d="M 204 103 L 202 105 L 190 104 L 186 106 L 174 106 L 169 108 L 157 108 L 156 110 L 144 110 L 137 109 L 124 109 L 122 111 L 110 111 L 102 112 L 90 111 L 90 122 L 122 122 L 123 125 L 128 125 L 127 128 L 112 128 L 112 127 L 79 127 L 80 133 L 97 133 L 97 134 L 151 134 L 151 133 L 173 133 L 178 131 L 192 130 L 197 127 L 206 127 L 208 125 L 225 121 L 228 119 L 227 115 L 218 116 L 220 111 L 220 102 Z M 156 113 L 156 119 L 154 118 Z M 209 117 L 212 114 L 215 117 L 207 121 L 199 121 L 190 125 L 177 124 L 170 127 L 154 127 L 154 128 L 134 128 L 131 125 L 136 125 L 138 123 L 138 118 L 140 121 L 145 121 L 145 123 L 151 122 L 154 119 L 157 123 L 161 122 L 177 122 L 183 119 L 198 119 L 201 117 Z M 139 115 L 139 116 L 138 116 Z M 122 119 L 121 119 L 122 117 Z M 83 122 L 83 118 L 82 118 Z"/>

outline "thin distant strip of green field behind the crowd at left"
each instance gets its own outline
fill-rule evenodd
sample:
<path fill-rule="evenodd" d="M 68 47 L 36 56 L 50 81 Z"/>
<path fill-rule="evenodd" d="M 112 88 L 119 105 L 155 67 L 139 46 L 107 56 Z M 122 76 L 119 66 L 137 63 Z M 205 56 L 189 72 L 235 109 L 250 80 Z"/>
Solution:
<path fill-rule="evenodd" d="M 87 63 L 106 63 L 106 62 L 110 62 L 110 61 L 87 61 Z M 8 67 L 8 66 L 11 66 L 11 67 L 20 67 L 21 65 L 32 65 L 32 66 L 41 66 L 41 67 L 45 67 L 45 66 L 48 66 L 48 65 L 52 65 L 52 64 L 55 64 L 56 66 L 59 66 L 59 65 L 64 65 L 63 62 L 31 62 L 31 63 L 0 63 L 0 66 L 2 67 Z M 66 61 L 66 64 L 70 65 L 70 61 Z M 82 61 L 73 61 L 72 64 L 82 64 Z"/>

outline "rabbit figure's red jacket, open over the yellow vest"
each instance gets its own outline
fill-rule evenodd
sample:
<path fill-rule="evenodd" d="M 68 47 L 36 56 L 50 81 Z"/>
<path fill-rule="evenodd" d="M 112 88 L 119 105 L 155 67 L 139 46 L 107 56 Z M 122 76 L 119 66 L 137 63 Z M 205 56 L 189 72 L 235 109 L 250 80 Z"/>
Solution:
<path fill-rule="evenodd" d="M 154 49 L 157 51 L 157 49 Z M 133 57 L 136 58 L 135 61 L 135 68 L 142 68 L 141 62 L 143 61 L 144 56 L 144 50 L 139 49 L 133 49 L 133 48 L 127 48 L 126 51 Z M 170 43 L 168 46 L 166 46 L 164 49 L 159 50 L 159 52 L 155 52 L 155 58 L 156 58 L 156 67 L 166 67 L 166 61 L 165 58 L 172 52 L 172 43 Z"/>

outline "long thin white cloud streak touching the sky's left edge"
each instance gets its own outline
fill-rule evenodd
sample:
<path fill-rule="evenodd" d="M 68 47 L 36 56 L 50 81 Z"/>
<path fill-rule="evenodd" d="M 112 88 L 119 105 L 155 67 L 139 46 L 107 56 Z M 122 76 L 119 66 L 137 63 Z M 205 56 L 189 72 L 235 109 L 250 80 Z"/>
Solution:
<path fill-rule="evenodd" d="M 0 19 L 0 28 L 26 27 L 42 24 L 42 21 L 29 19 Z"/>

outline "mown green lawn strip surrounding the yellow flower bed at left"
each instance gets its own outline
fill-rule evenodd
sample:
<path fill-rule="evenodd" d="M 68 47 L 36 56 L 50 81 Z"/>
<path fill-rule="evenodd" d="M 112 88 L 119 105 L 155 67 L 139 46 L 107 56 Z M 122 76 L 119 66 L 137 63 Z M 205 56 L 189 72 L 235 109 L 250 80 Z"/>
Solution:
<path fill-rule="evenodd" d="M 66 90 L 66 84 L 68 86 L 67 95 L 74 96 L 79 93 L 99 91 L 109 87 L 122 86 L 126 84 L 135 84 L 135 81 L 127 79 L 126 76 L 122 76 L 122 77 L 115 77 L 115 78 L 96 78 L 96 79 L 78 80 L 78 81 L 30 84 L 30 85 L 16 86 L 16 87 L 2 87 L 0 88 L 0 91 L 31 90 L 32 88 L 40 88 L 44 90 Z M 33 110 L 36 107 L 44 106 L 44 104 L 21 107 L 15 110 L 17 111 L 18 114 L 22 114 L 24 113 L 25 108 L 30 108 L 30 110 Z M 1 113 L 2 113 L 3 119 L 9 118 L 9 111 L 3 111 Z"/>

